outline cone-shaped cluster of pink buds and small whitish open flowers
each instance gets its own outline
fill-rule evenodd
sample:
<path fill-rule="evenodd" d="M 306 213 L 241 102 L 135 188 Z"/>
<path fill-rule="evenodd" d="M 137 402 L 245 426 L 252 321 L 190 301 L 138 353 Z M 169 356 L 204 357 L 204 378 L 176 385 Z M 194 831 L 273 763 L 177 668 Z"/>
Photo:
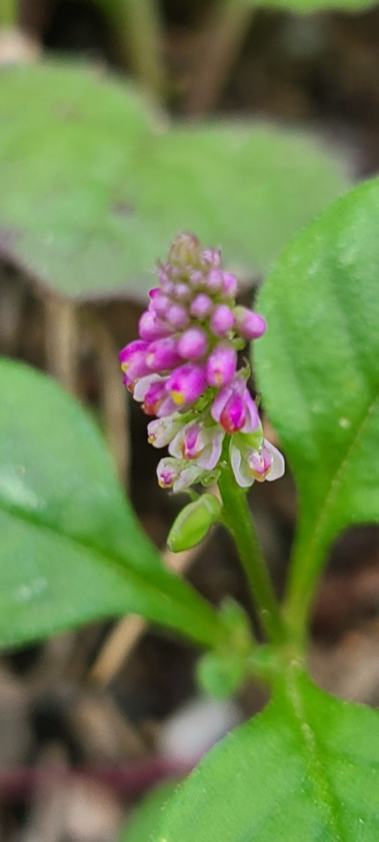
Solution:
<path fill-rule="evenodd" d="M 147 415 L 149 441 L 168 445 L 157 467 L 162 488 L 208 485 L 220 471 L 226 436 L 243 488 L 281 477 L 284 460 L 264 440 L 238 351 L 263 335 L 258 313 L 236 305 L 238 284 L 221 253 L 179 234 L 159 267 L 159 286 L 139 322 L 139 337 L 120 352 L 125 386 Z"/>

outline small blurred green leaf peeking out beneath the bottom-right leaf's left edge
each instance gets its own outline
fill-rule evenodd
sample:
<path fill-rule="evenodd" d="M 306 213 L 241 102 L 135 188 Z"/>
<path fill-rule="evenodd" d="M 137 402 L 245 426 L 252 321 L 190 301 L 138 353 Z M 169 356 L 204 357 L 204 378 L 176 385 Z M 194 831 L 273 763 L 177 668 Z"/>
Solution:
<path fill-rule="evenodd" d="M 165 781 L 164 784 L 155 786 L 131 813 L 131 818 L 126 824 L 119 842 L 150 842 L 151 835 L 161 818 L 163 808 L 168 802 L 168 798 L 173 796 L 177 786 L 178 781 Z"/>

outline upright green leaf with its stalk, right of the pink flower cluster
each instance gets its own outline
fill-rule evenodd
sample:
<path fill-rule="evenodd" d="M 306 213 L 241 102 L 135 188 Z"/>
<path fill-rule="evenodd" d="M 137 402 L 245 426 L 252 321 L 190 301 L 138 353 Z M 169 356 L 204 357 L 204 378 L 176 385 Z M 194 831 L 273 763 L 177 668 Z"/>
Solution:
<path fill-rule="evenodd" d="M 296 475 L 301 520 L 288 612 L 301 630 L 339 531 L 379 520 L 379 180 L 291 243 L 258 309 L 264 404 Z"/>

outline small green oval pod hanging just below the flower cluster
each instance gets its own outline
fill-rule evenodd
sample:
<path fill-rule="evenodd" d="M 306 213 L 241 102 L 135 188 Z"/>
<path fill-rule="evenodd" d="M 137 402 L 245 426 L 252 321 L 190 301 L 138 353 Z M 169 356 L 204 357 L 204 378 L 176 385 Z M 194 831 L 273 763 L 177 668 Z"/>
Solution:
<path fill-rule="evenodd" d="M 173 552 L 189 550 L 206 537 L 211 525 L 220 520 L 222 504 L 214 494 L 201 494 L 194 503 L 184 506 L 174 521 L 167 542 Z"/>

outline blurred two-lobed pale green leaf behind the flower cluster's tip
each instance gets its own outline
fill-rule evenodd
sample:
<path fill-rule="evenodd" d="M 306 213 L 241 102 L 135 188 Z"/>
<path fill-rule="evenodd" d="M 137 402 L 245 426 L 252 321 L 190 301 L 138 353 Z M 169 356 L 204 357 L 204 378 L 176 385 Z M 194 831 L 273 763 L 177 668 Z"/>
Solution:
<path fill-rule="evenodd" d="M 143 298 L 180 230 L 266 268 L 345 188 L 335 155 L 257 124 L 153 126 L 126 84 L 39 64 L 0 72 L 0 254 L 69 296 Z"/>

